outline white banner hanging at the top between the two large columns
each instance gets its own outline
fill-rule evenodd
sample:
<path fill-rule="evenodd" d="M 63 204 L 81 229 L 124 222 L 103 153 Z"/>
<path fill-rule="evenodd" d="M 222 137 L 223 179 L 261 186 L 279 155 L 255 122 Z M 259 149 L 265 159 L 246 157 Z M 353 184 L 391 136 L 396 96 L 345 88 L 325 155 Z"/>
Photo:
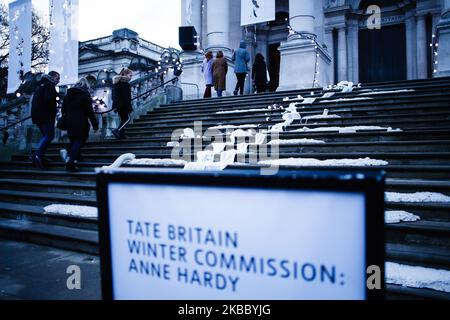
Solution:
<path fill-rule="evenodd" d="M 275 20 L 275 0 L 241 0 L 241 26 Z"/>

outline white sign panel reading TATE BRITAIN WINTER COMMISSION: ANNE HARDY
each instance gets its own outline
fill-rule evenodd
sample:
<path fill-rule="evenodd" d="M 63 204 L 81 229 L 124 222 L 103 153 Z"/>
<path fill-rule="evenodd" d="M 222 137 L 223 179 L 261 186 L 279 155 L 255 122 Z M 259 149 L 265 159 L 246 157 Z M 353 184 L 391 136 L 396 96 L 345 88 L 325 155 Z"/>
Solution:
<path fill-rule="evenodd" d="M 114 299 L 366 298 L 364 193 L 110 183 Z"/>

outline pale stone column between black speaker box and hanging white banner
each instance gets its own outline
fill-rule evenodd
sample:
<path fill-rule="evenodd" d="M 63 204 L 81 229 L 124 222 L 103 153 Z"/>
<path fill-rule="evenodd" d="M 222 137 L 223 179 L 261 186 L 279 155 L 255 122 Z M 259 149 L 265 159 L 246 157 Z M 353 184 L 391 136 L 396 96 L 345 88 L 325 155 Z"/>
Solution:
<path fill-rule="evenodd" d="M 230 50 L 229 0 L 208 0 L 206 50 Z"/>

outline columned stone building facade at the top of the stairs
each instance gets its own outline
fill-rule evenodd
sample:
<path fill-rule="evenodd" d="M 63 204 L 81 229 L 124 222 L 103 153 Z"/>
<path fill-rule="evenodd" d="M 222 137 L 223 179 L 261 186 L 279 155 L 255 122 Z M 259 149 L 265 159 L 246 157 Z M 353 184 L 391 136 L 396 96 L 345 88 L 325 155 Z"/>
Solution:
<path fill-rule="evenodd" d="M 222 50 L 230 60 L 240 40 L 252 59 L 266 58 L 273 91 L 450 75 L 450 0 L 275 3 L 275 21 L 241 27 L 241 0 L 182 0 L 181 25 L 199 34 L 199 50 L 184 53 L 183 81 L 203 85 L 202 53 Z"/>

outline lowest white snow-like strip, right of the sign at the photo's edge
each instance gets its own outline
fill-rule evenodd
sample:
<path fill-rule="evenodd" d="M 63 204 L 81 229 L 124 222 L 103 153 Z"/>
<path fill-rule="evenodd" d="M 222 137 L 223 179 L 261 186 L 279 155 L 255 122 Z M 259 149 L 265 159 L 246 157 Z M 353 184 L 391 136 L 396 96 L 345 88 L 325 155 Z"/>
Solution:
<path fill-rule="evenodd" d="M 386 263 L 386 283 L 450 292 L 450 271 Z"/>

